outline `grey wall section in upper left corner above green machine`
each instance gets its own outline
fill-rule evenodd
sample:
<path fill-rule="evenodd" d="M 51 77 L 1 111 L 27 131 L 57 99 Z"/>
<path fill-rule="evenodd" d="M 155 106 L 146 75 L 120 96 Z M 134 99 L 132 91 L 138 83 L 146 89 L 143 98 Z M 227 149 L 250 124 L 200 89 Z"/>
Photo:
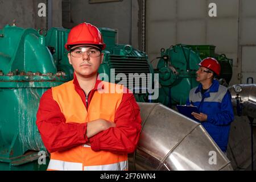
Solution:
<path fill-rule="evenodd" d="M 48 7 L 48 2 L 52 2 L 52 26 L 61 27 L 61 0 L 0 0 L 0 28 L 6 24 L 13 25 L 14 20 L 16 26 L 22 28 L 48 28 L 48 12 L 46 16 L 38 15 L 39 3 Z"/>

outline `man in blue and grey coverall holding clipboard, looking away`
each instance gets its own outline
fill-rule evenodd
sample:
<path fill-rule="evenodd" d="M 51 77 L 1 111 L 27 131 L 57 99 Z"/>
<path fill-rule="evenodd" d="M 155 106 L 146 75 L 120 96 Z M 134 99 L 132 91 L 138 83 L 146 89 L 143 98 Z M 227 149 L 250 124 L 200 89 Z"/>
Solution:
<path fill-rule="evenodd" d="M 233 106 L 229 90 L 214 79 L 220 75 L 220 64 L 207 57 L 199 64 L 196 81 L 200 84 L 189 92 L 187 105 L 197 106 L 199 113 L 191 113 L 201 122 L 205 130 L 226 154 L 230 123 L 234 120 Z"/>

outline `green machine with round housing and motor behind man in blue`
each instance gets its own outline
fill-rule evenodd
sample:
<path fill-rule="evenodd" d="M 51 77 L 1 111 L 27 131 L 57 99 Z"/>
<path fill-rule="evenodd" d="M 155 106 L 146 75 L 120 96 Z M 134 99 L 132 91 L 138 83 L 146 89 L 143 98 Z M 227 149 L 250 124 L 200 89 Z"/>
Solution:
<path fill-rule="evenodd" d="M 199 85 L 196 81 L 197 64 L 205 57 L 216 58 L 221 65 L 221 75 L 218 77 L 222 85 L 228 86 L 232 78 L 232 59 L 214 52 L 211 45 L 177 44 L 168 49 L 161 49 L 161 56 L 156 73 L 159 73 L 158 102 L 172 107 L 185 104 L 189 90 Z"/>

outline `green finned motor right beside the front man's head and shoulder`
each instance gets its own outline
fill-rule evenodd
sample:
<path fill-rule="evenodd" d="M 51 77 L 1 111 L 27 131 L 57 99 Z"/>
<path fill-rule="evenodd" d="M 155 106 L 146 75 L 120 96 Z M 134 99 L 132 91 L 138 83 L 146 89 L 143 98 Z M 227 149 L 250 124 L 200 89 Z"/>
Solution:
<path fill-rule="evenodd" d="M 153 102 L 148 97 L 148 88 L 154 82 L 154 69 L 146 53 L 127 44 L 115 43 L 117 32 L 110 28 L 100 28 L 106 43 L 104 60 L 99 73 L 108 75 L 110 82 L 123 84 L 133 91 L 137 102 Z"/>

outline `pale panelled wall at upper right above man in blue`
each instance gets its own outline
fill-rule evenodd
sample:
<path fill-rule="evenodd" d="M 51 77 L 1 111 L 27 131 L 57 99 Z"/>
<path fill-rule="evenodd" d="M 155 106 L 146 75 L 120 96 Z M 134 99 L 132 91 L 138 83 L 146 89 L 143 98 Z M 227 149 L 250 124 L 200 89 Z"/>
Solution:
<path fill-rule="evenodd" d="M 213 44 L 218 54 L 233 59 L 232 84 L 256 80 L 256 1 L 147 0 L 146 51 L 150 60 L 160 48 L 177 43 Z M 216 3 L 217 16 L 208 7 Z M 154 63 L 156 65 L 156 63 Z"/>

